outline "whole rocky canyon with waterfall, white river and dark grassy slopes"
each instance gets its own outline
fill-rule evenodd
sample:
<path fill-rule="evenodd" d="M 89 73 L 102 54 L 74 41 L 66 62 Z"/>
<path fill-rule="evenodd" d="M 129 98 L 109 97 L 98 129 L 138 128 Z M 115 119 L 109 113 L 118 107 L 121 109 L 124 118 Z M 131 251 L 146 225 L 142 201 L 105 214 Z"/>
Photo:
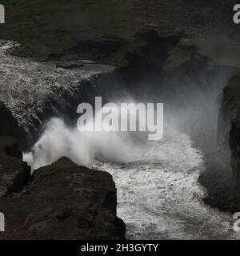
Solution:
<path fill-rule="evenodd" d="M 37 2 L 6 2 L 0 31 L 1 238 L 238 238 L 232 2 Z M 95 97 L 163 102 L 162 141 L 76 134 Z"/>

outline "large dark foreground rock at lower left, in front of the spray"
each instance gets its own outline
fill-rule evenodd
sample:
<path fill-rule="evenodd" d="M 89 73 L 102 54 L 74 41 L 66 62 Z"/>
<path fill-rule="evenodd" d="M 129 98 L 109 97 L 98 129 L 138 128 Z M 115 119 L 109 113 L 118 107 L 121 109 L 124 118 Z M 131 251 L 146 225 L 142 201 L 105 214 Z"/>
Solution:
<path fill-rule="evenodd" d="M 8 239 L 123 239 L 110 174 L 67 158 L 36 170 L 21 194 L 0 199 Z M 0 234 L 1 235 L 1 234 Z"/>

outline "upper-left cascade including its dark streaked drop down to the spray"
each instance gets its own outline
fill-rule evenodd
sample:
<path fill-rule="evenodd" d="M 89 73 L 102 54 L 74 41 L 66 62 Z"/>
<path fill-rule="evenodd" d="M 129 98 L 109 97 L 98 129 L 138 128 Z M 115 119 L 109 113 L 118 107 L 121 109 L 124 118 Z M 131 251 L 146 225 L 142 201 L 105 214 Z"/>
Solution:
<path fill-rule="evenodd" d="M 95 67 L 86 61 L 40 62 L 14 55 L 23 51 L 17 42 L 0 40 L 0 101 L 16 120 L 8 127 L 3 123 L 1 130 L 8 135 L 17 122 L 20 144 L 26 148 L 35 142 L 52 116 L 70 120 L 76 115 L 78 104 L 96 94 L 94 80 L 113 67 Z M 1 111 L 0 118 L 6 119 L 8 110 Z"/>

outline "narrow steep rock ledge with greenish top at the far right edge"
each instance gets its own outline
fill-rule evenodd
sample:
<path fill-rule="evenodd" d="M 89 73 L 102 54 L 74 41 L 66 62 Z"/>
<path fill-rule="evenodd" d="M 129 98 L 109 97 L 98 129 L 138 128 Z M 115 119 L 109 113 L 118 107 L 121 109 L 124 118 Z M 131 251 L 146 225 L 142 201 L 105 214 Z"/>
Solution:
<path fill-rule="evenodd" d="M 222 210 L 237 212 L 240 210 L 240 72 L 234 72 L 223 90 L 222 106 L 218 114 L 218 141 L 230 151 L 230 166 L 225 172 L 230 174 L 228 190 L 220 201 Z M 219 169 L 222 168 L 222 165 Z M 232 173 L 230 173 L 230 169 Z M 219 171 L 218 171 L 219 174 Z M 220 193 L 221 194 L 221 193 Z M 223 193 L 222 193 L 223 194 Z M 219 191 L 217 198 L 219 198 Z M 217 200 L 219 201 L 219 200 Z M 215 203 L 216 204 L 216 203 Z"/>

